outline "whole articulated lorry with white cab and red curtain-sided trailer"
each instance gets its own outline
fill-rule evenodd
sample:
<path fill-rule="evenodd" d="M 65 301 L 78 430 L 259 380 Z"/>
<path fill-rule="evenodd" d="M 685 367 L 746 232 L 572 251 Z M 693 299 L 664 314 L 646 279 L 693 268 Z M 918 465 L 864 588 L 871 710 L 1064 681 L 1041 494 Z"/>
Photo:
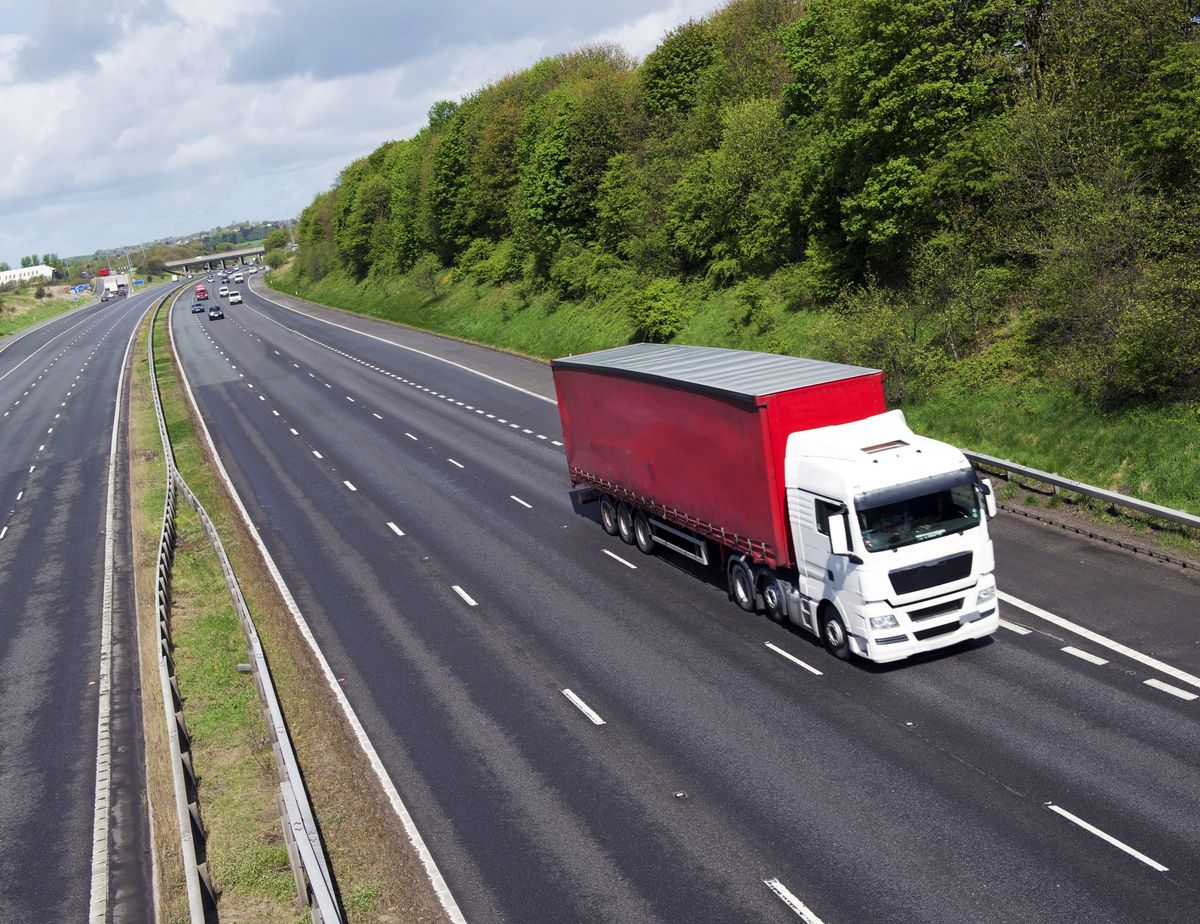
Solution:
<path fill-rule="evenodd" d="M 1000 625 L 991 484 L 887 410 L 883 373 L 636 343 L 552 364 L 576 497 L 642 552 L 838 658 L 896 661 Z"/>

